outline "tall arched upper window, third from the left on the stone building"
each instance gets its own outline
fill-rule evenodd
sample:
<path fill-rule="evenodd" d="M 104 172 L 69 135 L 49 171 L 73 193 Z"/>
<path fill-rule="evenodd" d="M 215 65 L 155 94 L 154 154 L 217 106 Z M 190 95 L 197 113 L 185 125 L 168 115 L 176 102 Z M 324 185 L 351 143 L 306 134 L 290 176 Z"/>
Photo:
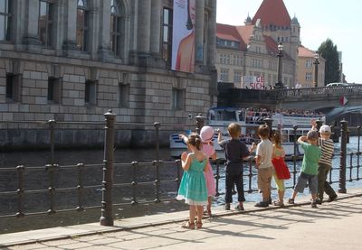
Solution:
<path fill-rule="evenodd" d="M 78 0 L 77 5 L 77 47 L 81 51 L 88 51 L 88 3 L 87 0 Z"/>

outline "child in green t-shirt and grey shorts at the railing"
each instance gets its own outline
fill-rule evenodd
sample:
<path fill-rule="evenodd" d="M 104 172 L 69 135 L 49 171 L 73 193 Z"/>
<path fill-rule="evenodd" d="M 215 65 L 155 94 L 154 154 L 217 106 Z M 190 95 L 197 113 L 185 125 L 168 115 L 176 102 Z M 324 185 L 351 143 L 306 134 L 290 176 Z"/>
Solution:
<path fill-rule="evenodd" d="M 300 176 L 298 177 L 291 199 L 288 200 L 290 204 L 294 204 L 297 193 L 302 193 L 308 183 L 311 193 L 311 207 L 317 208 L 318 163 L 320 159 L 318 137 L 318 132 L 311 130 L 307 136 L 302 135 L 298 138 L 298 144 L 300 144 L 304 151 L 304 157 L 301 163 Z"/>

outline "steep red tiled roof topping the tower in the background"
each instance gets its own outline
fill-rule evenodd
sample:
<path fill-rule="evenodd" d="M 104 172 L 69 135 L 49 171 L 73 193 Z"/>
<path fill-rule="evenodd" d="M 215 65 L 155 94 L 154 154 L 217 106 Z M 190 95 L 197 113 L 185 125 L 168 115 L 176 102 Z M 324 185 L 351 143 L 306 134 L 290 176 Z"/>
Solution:
<path fill-rule="evenodd" d="M 262 25 L 291 26 L 291 16 L 284 5 L 283 0 L 263 0 L 262 5 L 252 18 L 255 24 L 258 19 L 262 20 Z"/>

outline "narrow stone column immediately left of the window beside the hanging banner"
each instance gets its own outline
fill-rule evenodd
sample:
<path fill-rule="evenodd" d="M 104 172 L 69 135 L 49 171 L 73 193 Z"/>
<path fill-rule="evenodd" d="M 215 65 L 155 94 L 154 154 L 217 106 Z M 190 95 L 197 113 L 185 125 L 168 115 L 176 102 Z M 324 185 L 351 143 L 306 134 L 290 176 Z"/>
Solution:
<path fill-rule="evenodd" d="M 161 0 L 153 0 L 151 6 L 151 53 L 159 57 L 161 35 Z"/>

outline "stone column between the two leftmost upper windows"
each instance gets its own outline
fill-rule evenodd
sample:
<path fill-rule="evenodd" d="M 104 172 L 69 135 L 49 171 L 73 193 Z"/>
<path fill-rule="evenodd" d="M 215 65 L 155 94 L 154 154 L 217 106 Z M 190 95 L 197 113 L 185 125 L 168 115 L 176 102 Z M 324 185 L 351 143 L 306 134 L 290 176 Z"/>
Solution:
<path fill-rule="evenodd" d="M 28 0 L 25 5 L 24 44 L 41 45 L 39 40 L 39 1 Z"/>

